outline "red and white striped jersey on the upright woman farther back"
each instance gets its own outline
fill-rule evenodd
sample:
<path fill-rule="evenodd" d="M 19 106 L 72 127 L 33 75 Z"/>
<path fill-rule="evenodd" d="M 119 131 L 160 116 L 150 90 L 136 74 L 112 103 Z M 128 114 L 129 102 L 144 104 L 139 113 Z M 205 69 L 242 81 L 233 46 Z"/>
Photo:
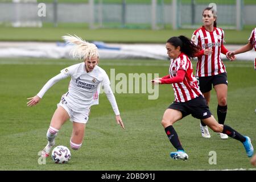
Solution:
<path fill-rule="evenodd" d="M 224 42 L 224 31 L 214 27 L 212 32 L 207 31 L 204 26 L 197 29 L 192 35 L 192 42 L 203 50 L 212 48 L 212 55 L 197 57 L 196 76 L 213 76 L 225 73 L 226 68 L 221 61 L 221 45 Z"/>

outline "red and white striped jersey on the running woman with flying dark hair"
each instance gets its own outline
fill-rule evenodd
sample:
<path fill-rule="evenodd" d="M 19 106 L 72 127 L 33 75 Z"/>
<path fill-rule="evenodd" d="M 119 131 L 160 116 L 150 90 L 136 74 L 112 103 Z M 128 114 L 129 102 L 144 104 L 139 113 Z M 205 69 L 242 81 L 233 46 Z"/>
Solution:
<path fill-rule="evenodd" d="M 197 85 L 196 77 L 193 75 L 192 63 L 184 53 L 180 53 L 175 60 L 171 59 L 170 77 L 175 77 L 179 69 L 183 69 L 186 73 L 182 82 L 172 84 L 175 101 L 186 102 L 202 95 Z"/>

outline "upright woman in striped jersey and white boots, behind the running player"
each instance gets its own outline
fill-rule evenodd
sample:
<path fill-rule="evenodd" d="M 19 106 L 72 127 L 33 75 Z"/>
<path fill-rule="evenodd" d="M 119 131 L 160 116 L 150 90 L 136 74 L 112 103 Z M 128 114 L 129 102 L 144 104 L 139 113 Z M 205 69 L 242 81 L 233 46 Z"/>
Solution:
<path fill-rule="evenodd" d="M 192 42 L 201 48 L 201 51 L 196 53 L 196 77 L 199 82 L 199 88 L 204 94 L 207 105 L 210 102 L 210 90 L 212 85 L 216 91 L 218 106 L 217 116 L 218 122 L 224 124 L 226 118 L 228 80 L 226 68 L 221 60 L 220 53 L 226 55 L 228 50 L 224 47 L 224 31 L 217 28 L 217 14 L 212 7 L 207 7 L 203 11 L 204 25 L 198 28 L 192 35 Z M 234 56 L 228 57 L 234 60 Z M 210 138 L 210 133 L 204 122 L 200 123 L 202 136 Z M 227 139 L 228 135 L 220 134 L 222 139 Z"/>

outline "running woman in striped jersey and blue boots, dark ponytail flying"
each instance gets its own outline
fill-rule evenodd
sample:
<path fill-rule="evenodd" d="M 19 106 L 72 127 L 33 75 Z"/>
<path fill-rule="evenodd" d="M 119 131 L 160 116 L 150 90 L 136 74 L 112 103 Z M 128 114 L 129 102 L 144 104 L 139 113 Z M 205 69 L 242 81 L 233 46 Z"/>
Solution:
<path fill-rule="evenodd" d="M 214 132 L 224 133 L 240 140 L 245 147 L 247 156 L 251 157 L 254 150 L 250 138 L 241 135 L 227 125 L 218 123 L 210 113 L 207 102 L 198 88 L 189 57 L 193 57 L 199 47 L 185 36 L 179 36 L 168 39 L 166 49 L 171 58 L 170 73 L 162 78 L 155 78 L 152 80 L 152 84 L 172 84 L 174 89 L 175 101 L 166 109 L 162 119 L 167 137 L 177 150 L 170 153 L 171 158 L 188 159 L 188 155 L 181 146 L 179 137 L 172 125 L 189 114 L 197 119 L 202 119 Z"/>

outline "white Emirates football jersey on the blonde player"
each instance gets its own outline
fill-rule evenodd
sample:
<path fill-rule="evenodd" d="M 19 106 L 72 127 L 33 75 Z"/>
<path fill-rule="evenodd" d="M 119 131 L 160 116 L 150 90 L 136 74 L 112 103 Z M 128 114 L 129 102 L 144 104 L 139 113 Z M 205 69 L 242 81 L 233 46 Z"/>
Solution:
<path fill-rule="evenodd" d="M 64 68 L 61 73 L 71 76 L 68 92 L 63 97 L 67 105 L 76 112 L 82 112 L 92 105 L 98 85 L 110 85 L 108 75 L 97 65 L 88 73 L 85 71 L 85 63 Z"/>

